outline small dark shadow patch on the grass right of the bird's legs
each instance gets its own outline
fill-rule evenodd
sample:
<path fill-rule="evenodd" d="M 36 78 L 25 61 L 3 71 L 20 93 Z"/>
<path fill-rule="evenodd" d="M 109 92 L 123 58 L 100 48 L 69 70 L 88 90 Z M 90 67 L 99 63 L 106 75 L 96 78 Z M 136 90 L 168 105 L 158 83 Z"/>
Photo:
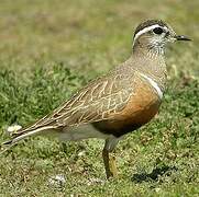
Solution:
<path fill-rule="evenodd" d="M 135 182 L 135 183 L 151 182 L 151 181 L 157 182 L 159 176 L 163 176 L 163 175 L 169 176 L 172 171 L 177 171 L 177 167 L 164 165 L 161 167 L 155 167 L 151 173 L 144 172 L 144 173 L 133 174 L 131 179 L 132 182 Z"/>

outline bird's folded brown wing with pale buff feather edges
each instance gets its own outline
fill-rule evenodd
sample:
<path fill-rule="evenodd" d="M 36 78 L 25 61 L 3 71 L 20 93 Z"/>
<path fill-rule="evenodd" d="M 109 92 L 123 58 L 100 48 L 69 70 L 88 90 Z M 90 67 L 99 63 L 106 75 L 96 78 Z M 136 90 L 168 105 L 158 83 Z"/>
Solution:
<path fill-rule="evenodd" d="M 19 130 L 15 135 L 30 130 L 77 126 L 110 119 L 111 114 L 121 112 L 133 93 L 132 76 L 117 74 L 99 78 L 81 89 L 52 114 L 43 117 L 31 127 Z"/>

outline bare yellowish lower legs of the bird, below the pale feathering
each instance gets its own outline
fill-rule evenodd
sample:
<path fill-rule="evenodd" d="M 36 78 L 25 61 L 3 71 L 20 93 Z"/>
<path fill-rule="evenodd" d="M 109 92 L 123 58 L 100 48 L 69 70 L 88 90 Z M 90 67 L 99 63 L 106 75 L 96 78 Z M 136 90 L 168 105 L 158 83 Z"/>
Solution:
<path fill-rule="evenodd" d="M 108 150 L 103 149 L 102 157 L 103 157 L 107 178 L 117 177 L 118 172 L 117 172 L 114 152 L 109 152 Z"/>

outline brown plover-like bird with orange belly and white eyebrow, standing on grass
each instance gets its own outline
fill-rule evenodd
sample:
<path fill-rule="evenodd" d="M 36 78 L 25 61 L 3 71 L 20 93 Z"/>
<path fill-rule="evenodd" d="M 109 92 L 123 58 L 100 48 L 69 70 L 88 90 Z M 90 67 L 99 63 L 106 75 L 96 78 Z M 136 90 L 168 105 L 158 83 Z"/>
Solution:
<path fill-rule="evenodd" d="M 177 35 L 162 20 L 141 22 L 134 31 L 130 57 L 90 82 L 52 113 L 11 135 L 0 148 L 7 151 L 34 135 L 54 134 L 62 140 L 104 140 L 102 158 L 107 178 L 117 177 L 114 150 L 122 137 L 137 130 L 157 114 L 167 86 L 165 49 L 168 43 L 191 40 Z"/>

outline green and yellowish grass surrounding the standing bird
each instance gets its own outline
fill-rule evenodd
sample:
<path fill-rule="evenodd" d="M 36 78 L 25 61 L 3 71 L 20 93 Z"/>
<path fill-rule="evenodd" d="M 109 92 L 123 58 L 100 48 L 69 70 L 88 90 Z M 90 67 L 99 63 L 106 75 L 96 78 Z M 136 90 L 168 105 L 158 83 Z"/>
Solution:
<path fill-rule="evenodd" d="M 118 179 L 106 182 L 103 141 L 35 137 L 1 155 L 1 196 L 198 196 L 198 8 L 197 0 L 1 0 L 0 141 L 8 126 L 36 120 L 125 60 L 141 21 L 166 20 L 194 39 L 168 48 L 161 112 L 119 143 Z"/>

